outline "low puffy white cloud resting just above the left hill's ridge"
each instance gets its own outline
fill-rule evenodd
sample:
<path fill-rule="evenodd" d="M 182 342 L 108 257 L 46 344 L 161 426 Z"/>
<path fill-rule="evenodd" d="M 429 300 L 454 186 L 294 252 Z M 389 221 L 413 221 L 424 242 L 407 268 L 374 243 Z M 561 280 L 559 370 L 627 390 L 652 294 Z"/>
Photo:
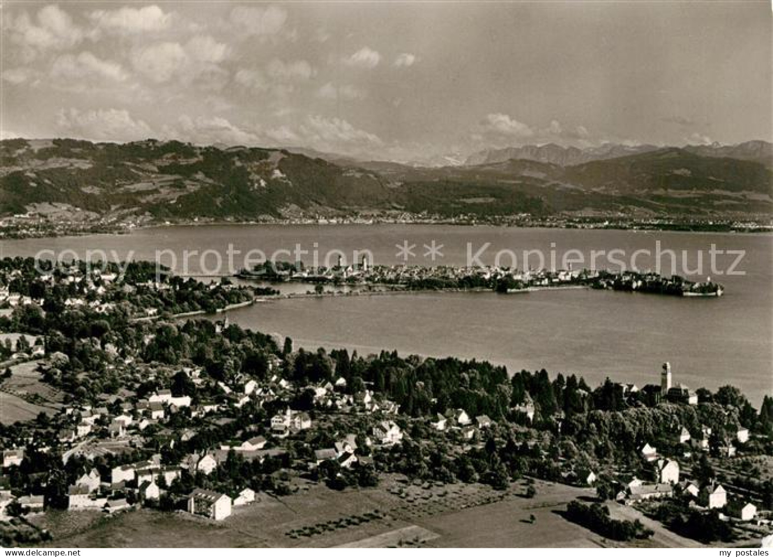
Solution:
<path fill-rule="evenodd" d="M 56 113 L 56 125 L 70 137 L 97 141 L 136 141 L 153 136 L 148 124 L 116 108 L 61 109 Z"/>

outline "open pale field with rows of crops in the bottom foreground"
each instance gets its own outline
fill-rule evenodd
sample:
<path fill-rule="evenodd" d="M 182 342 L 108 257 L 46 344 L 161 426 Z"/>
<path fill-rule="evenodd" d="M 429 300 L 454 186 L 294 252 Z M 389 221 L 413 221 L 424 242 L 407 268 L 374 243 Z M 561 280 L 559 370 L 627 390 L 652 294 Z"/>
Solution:
<path fill-rule="evenodd" d="M 374 489 L 339 492 L 305 484 L 281 500 L 261 495 L 256 503 L 235 508 L 230 518 L 218 523 L 183 512 L 138 510 L 114 517 L 47 513 L 39 525 L 51 530 L 51 545 L 57 547 L 615 545 L 557 512 L 568 501 L 587 498 L 590 491 L 540 481 L 535 485 L 536 497 L 529 499 L 523 497 L 523 482 L 501 492 L 479 484 L 414 485 L 388 477 Z M 73 527 L 73 520 L 80 524 Z M 680 540 L 658 532 L 643 545 L 689 545 Z"/>

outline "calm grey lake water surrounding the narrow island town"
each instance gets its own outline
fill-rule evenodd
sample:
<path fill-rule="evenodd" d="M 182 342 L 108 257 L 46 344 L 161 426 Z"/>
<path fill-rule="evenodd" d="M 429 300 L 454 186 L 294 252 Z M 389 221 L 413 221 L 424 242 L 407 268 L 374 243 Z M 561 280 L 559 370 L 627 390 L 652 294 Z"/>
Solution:
<path fill-rule="evenodd" d="M 434 262 L 433 241 L 438 249 Z M 233 269 L 227 265 L 229 246 Z M 556 268 L 564 267 L 562 258 L 570 250 L 577 250 L 570 253 L 574 268 L 591 267 L 591 252 L 606 252 L 597 256 L 595 267 L 613 269 L 621 267 L 619 262 L 630 267 L 638 250 L 634 263 L 639 270 L 657 270 L 659 250 L 666 252 L 660 258 L 663 274 L 671 274 L 672 260 L 676 260 L 676 273 L 700 270 L 689 278 L 711 277 L 727 291 L 718 299 L 596 290 L 293 299 L 233 311 L 231 320 L 288 335 L 296 345 L 308 348 L 346 347 L 360 353 L 383 348 L 403 354 L 488 359 L 511 370 L 577 372 L 591 384 L 607 376 L 639 385 L 658 382 L 660 365 L 669 361 L 675 381 L 693 389 L 716 389 L 731 383 L 743 389 L 755 405 L 765 393 L 773 392 L 771 235 L 492 226 L 184 226 L 142 229 L 125 236 L 4 241 L 0 256 L 73 250 L 84 257 L 86 250 L 104 250 L 111 259 L 131 255 L 153 260 L 159 250 L 169 250 L 161 261 L 178 272 L 216 274 L 242 267 L 249 250 L 261 250 L 267 256 L 288 250 L 279 259 L 295 260 L 299 247 L 309 252 L 301 254 L 307 264 L 323 264 L 327 255 L 329 263 L 335 264 L 339 253 L 332 250 L 340 250 L 346 262 L 359 260 L 355 250 L 369 250 L 369 263 L 395 264 L 406 259 L 398 256 L 398 246 L 414 253 L 407 256 L 409 264 L 465 265 L 476 253 L 489 264 L 499 253 L 502 264 L 510 264 L 515 254 L 522 268 L 526 266 L 524 250 L 540 251 L 545 266 Z M 712 246 L 743 252 L 734 272 L 744 274 L 717 274 L 717 270 L 730 269 L 738 258 L 736 253 L 715 255 L 712 270 Z M 185 250 L 197 252 L 188 253 L 187 263 Z M 622 251 L 609 254 L 610 250 Z M 202 259 L 205 252 L 209 253 Z M 584 262 L 578 262 L 580 255 Z M 216 264 L 218 258 L 221 267 Z M 528 263 L 540 267 L 534 254 Z"/>

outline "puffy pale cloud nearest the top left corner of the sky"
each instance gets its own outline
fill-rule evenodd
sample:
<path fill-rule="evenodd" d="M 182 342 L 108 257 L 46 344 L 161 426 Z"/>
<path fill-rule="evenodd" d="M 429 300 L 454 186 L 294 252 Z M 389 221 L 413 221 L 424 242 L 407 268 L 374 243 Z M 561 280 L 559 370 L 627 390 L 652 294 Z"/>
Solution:
<path fill-rule="evenodd" d="M 34 59 L 46 50 L 72 48 L 83 40 L 83 31 L 59 6 L 40 8 L 33 20 L 27 12 L 5 17 L 3 33 L 22 49 L 25 59 Z"/>

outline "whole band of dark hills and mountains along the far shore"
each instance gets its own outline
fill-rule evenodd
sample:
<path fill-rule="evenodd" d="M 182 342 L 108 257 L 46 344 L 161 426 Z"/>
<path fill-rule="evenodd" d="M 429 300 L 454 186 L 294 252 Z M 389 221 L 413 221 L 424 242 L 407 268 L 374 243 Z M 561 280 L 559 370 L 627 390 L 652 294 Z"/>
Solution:
<path fill-rule="evenodd" d="M 0 142 L 0 216 L 770 216 L 771 148 L 548 144 L 416 167 L 301 148 L 15 139 Z"/>

